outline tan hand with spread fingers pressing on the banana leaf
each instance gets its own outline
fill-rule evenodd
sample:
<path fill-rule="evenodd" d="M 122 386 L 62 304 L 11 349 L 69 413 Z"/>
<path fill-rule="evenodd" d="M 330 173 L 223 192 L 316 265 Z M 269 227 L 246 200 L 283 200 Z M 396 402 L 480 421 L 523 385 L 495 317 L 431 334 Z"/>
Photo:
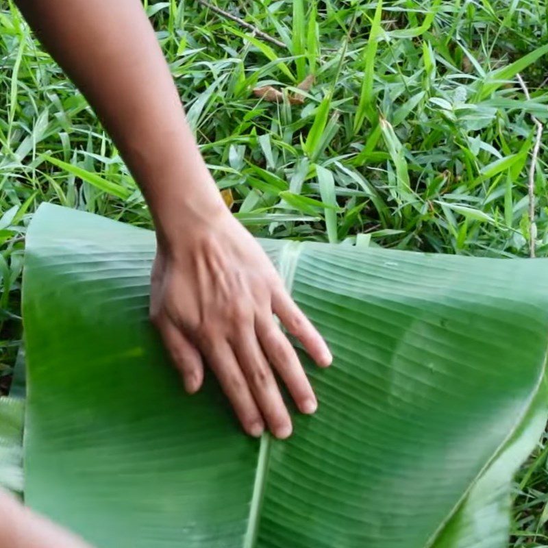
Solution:
<path fill-rule="evenodd" d="M 273 369 L 297 407 L 317 402 L 279 318 L 319 366 L 331 353 L 284 288 L 266 253 L 225 210 L 217 219 L 179 227 L 176 244 L 160 239 L 151 279 L 151 320 L 158 327 L 188 393 L 208 363 L 243 428 L 260 436 L 265 422 L 278 438 L 292 432 Z"/>

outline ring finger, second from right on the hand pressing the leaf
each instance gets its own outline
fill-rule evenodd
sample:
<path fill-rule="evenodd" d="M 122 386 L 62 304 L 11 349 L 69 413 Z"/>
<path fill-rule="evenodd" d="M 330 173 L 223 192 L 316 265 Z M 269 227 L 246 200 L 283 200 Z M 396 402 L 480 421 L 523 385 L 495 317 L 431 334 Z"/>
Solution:
<path fill-rule="evenodd" d="M 282 377 L 299 410 L 307 414 L 314 413 L 318 407 L 314 390 L 282 329 L 272 316 L 265 315 L 258 318 L 256 330 L 266 358 Z"/>

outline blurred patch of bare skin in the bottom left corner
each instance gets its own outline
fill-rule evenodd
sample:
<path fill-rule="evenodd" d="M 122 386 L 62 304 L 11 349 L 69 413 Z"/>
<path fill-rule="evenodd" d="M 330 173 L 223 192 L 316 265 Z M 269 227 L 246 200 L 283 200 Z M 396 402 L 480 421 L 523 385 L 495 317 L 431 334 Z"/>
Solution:
<path fill-rule="evenodd" d="M 0 548 L 90 548 L 0 490 Z"/>

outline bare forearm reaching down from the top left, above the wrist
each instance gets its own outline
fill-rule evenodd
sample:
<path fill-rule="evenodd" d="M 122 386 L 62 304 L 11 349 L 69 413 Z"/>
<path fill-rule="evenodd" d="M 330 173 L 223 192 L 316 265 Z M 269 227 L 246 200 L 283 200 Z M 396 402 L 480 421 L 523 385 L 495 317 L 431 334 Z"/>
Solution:
<path fill-rule="evenodd" d="M 160 234 L 183 216 L 221 210 L 140 1 L 17 3 L 112 136 Z"/>

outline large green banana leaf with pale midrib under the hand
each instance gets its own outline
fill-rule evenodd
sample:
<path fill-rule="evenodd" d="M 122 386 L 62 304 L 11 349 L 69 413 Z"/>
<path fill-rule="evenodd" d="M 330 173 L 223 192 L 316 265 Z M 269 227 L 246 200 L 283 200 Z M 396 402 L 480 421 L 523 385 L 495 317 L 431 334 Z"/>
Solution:
<path fill-rule="evenodd" d="M 184 394 L 151 232 L 44 205 L 27 236 L 25 501 L 101 548 L 503 548 L 547 419 L 548 262 L 261 242 L 334 352 L 285 441 Z"/>

